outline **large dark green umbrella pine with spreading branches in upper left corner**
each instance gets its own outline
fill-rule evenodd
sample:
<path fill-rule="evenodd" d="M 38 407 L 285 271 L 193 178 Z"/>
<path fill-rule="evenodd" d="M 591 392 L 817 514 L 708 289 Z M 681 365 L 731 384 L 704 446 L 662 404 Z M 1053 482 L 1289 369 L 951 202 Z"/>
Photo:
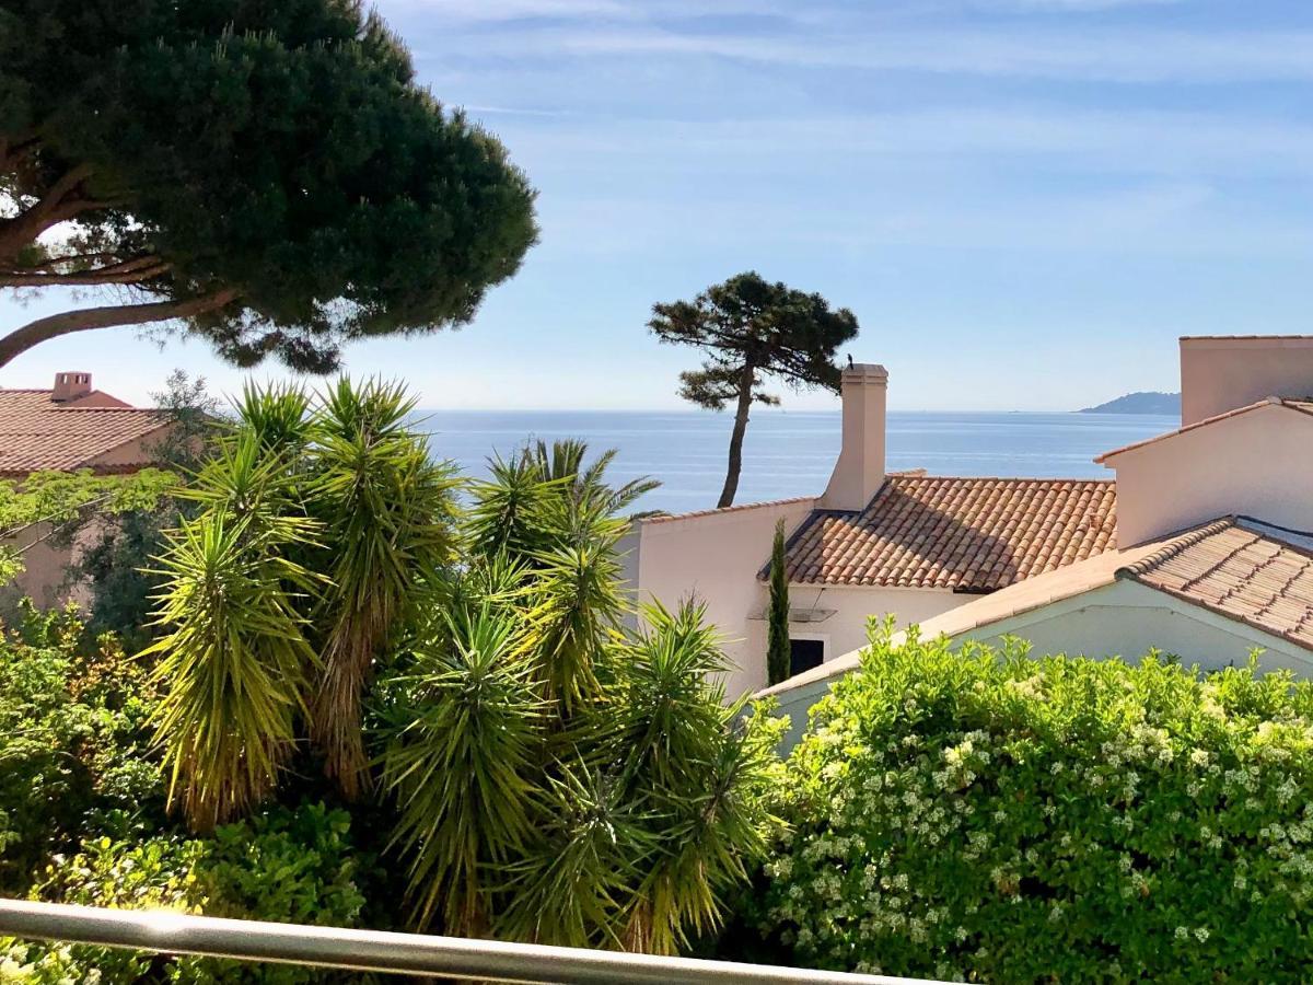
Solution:
<path fill-rule="evenodd" d="M 150 302 L 63 331 L 183 318 L 239 365 L 327 372 L 344 341 L 467 323 L 536 242 L 506 148 L 353 0 L 3 0 L 0 93 L 0 286 Z M 50 338 L 28 328 L 0 364 Z"/>

